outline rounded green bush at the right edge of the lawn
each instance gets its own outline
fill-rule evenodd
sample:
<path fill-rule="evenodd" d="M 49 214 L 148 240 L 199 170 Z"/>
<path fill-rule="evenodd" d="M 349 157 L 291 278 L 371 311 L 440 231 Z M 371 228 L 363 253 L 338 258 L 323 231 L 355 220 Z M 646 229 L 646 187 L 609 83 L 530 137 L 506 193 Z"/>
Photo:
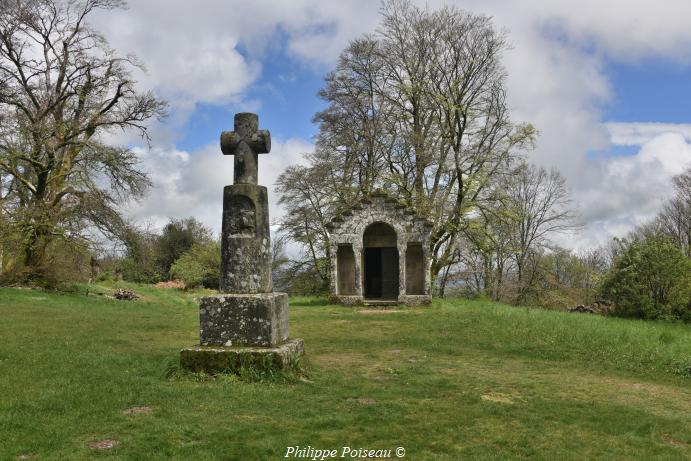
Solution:
<path fill-rule="evenodd" d="M 615 315 L 691 320 L 691 261 L 660 236 L 625 242 L 602 284 Z"/>

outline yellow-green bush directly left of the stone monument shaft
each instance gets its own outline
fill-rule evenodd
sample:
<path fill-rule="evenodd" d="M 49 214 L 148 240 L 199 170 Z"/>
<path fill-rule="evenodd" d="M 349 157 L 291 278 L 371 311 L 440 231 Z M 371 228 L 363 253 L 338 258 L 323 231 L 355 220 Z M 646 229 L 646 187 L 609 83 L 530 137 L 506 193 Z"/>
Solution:
<path fill-rule="evenodd" d="M 221 277 L 221 244 L 208 242 L 192 245 L 173 263 L 170 274 L 185 282 L 186 288 L 204 286 L 217 289 Z"/>

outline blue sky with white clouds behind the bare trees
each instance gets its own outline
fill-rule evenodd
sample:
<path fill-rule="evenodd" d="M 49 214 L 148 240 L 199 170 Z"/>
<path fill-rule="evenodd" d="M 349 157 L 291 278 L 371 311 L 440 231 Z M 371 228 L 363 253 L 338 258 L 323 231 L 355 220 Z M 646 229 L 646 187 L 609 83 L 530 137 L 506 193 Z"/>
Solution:
<path fill-rule="evenodd" d="M 567 180 L 582 227 L 555 241 L 574 250 L 623 237 L 655 216 L 671 178 L 691 167 L 691 2 L 686 0 L 427 0 L 493 18 L 512 118 L 539 130 L 531 162 Z M 233 159 L 219 135 L 235 112 L 259 114 L 272 151 L 259 159 L 272 220 L 273 183 L 313 149 L 317 92 L 339 53 L 376 30 L 378 1 L 136 0 L 92 25 L 146 66 L 138 85 L 170 104 L 147 146 L 127 133 L 154 187 L 127 213 L 162 227 L 194 216 L 220 232 L 222 188 Z"/>

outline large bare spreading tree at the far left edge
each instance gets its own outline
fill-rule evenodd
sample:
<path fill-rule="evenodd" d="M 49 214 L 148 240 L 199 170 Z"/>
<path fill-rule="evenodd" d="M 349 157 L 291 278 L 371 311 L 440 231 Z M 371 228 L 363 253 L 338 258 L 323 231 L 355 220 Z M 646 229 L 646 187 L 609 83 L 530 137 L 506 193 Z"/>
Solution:
<path fill-rule="evenodd" d="M 0 176 L 3 220 L 17 257 L 40 275 L 56 239 L 95 226 L 123 228 L 120 205 L 149 186 L 127 147 L 103 134 L 135 130 L 165 104 L 135 88 L 140 64 L 119 57 L 86 23 L 120 0 L 4 0 L 0 3 Z M 148 139 L 148 138 L 147 138 Z"/>

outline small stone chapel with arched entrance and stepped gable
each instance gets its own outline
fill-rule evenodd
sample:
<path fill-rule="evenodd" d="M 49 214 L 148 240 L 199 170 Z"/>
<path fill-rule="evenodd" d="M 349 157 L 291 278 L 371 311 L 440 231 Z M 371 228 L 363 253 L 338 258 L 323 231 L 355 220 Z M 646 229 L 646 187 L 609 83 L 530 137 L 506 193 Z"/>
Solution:
<path fill-rule="evenodd" d="M 432 223 L 378 191 L 327 226 L 331 298 L 345 305 L 432 301 L 429 238 Z"/>

